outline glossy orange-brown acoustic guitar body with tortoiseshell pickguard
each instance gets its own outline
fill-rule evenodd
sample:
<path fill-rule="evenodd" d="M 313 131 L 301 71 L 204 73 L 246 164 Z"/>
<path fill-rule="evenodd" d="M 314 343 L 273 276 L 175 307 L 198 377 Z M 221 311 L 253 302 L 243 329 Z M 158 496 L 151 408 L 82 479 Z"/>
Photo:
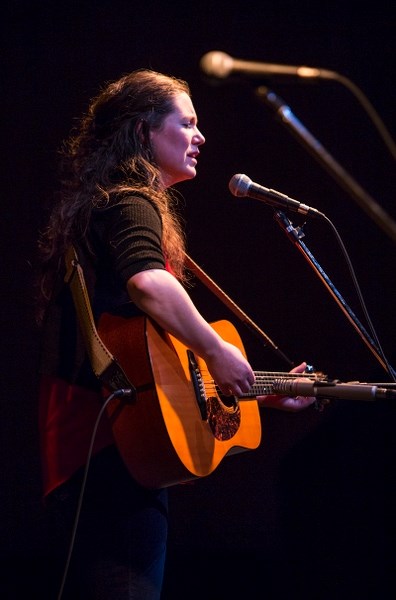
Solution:
<path fill-rule="evenodd" d="M 212 327 L 244 353 L 230 322 Z M 104 314 L 98 332 L 137 390 L 132 399 L 112 400 L 107 414 L 120 454 L 141 485 L 205 477 L 226 455 L 257 448 L 256 399 L 221 397 L 204 361 L 150 319 Z"/>

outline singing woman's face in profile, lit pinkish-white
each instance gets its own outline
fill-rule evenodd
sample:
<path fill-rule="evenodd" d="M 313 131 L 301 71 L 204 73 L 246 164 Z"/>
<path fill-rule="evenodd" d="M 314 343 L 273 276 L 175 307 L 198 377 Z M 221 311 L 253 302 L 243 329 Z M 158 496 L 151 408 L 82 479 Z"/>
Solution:
<path fill-rule="evenodd" d="M 199 146 L 205 142 L 197 122 L 191 98 L 181 92 L 174 97 L 173 110 L 161 128 L 150 131 L 153 157 L 165 187 L 193 179 L 197 174 Z"/>

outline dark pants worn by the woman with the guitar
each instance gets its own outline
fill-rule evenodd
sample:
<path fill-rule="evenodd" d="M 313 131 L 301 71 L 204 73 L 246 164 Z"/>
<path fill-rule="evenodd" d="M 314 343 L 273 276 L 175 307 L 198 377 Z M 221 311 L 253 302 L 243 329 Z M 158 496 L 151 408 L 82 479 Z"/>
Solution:
<path fill-rule="evenodd" d="M 64 577 L 82 481 L 83 471 L 79 471 L 47 501 L 55 535 L 56 593 L 63 589 L 62 600 L 159 600 L 168 531 L 167 492 L 136 484 L 115 448 L 92 458 Z"/>

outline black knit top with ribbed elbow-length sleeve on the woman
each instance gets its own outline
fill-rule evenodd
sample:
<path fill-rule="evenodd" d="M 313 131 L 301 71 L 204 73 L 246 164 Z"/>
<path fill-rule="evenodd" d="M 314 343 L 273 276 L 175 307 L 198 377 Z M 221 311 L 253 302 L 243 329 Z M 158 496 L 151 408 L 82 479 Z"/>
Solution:
<path fill-rule="evenodd" d="M 93 211 L 88 232 L 93 254 L 81 243 L 76 249 L 96 320 L 103 312 L 140 314 L 129 300 L 126 283 L 140 271 L 166 268 L 161 237 L 161 217 L 144 197 L 123 197 L 107 208 Z M 97 389 L 99 384 L 88 364 L 63 276 L 64 272 L 45 320 L 40 371 Z"/>

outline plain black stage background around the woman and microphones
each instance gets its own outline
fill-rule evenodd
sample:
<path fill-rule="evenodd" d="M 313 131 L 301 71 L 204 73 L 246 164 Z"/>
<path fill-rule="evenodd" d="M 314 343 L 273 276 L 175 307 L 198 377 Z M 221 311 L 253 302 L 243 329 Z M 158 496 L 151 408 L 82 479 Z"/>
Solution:
<path fill-rule="evenodd" d="M 395 362 L 395 242 L 259 103 L 270 86 L 395 219 L 395 162 L 339 82 L 210 83 L 203 54 L 333 70 L 395 132 L 391 3 L 146 0 L 10 2 L 2 10 L 1 550 L 3 598 L 47 598 L 37 419 L 35 244 L 56 183 L 56 152 L 102 83 L 139 67 L 187 79 L 207 138 L 198 177 L 179 187 L 192 258 L 294 362 L 342 381 L 389 381 L 303 255 L 260 202 L 231 196 L 235 173 L 325 213 L 349 253 L 383 350 Z M 293 224 L 303 223 L 299 215 Z M 304 242 L 367 328 L 334 232 Z M 209 320 L 238 327 L 256 369 L 288 370 L 200 283 Z M 164 598 L 394 597 L 394 403 L 334 401 L 323 413 L 263 411 L 260 448 L 171 490 Z M 109 507 L 109 519 L 116 507 Z"/>

